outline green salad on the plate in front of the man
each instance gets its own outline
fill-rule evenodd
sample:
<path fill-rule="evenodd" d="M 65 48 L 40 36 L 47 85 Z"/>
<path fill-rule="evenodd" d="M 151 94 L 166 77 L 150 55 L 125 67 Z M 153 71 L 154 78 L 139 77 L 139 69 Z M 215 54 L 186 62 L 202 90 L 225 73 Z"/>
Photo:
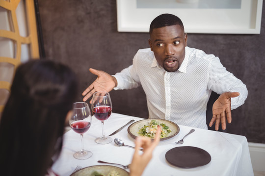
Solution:
<path fill-rule="evenodd" d="M 167 137 L 168 134 L 172 132 L 169 127 L 166 126 L 166 124 L 159 123 L 157 120 L 151 120 L 149 125 L 144 125 L 144 127 L 139 130 L 138 134 L 154 139 L 158 130 L 158 125 L 161 127 L 162 130 L 160 138 Z"/>

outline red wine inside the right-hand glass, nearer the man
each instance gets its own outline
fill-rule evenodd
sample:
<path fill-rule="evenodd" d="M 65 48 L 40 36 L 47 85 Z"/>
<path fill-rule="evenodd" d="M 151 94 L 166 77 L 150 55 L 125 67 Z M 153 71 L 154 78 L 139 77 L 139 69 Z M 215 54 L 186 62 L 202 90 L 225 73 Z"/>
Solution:
<path fill-rule="evenodd" d="M 112 108 L 109 106 L 98 106 L 92 109 L 93 115 L 101 121 L 109 118 Z"/>

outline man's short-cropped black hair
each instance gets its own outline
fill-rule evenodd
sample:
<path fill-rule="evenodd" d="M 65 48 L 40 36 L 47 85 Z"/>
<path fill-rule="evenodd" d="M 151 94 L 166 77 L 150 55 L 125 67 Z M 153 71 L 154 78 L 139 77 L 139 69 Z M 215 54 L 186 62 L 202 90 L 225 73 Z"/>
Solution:
<path fill-rule="evenodd" d="M 177 24 L 180 25 L 181 29 L 183 29 L 184 31 L 184 25 L 179 17 L 172 14 L 161 14 L 151 22 L 149 33 L 152 34 L 153 29 L 156 28 L 172 26 Z"/>

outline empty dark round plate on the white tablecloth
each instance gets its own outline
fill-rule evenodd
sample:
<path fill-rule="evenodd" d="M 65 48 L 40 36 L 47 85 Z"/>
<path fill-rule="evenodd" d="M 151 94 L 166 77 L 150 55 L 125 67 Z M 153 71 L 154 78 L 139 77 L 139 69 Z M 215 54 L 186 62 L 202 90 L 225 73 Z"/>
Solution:
<path fill-rule="evenodd" d="M 191 146 L 170 149 L 165 158 L 170 164 L 180 168 L 204 166 L 211 161 L 211 155 L 207 151 Z"/>

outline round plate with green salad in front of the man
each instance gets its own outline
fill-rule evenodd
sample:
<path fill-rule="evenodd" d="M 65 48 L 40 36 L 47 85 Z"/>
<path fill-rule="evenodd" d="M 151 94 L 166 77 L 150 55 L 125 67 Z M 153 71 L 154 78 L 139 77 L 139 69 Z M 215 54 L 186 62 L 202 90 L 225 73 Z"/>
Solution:
<path fill-rule="evenodd" d="M 151 139 L 154 139 L 158 125 L 161 127 L 160 140 L 166 140 L 171 137 L 174 137 L 180 132 L 180 127 L 165 119 L 145 119 L 134 122 L 128 127 L 128 133 L 132 138 L 137 136 L 147 136 Z"/>

